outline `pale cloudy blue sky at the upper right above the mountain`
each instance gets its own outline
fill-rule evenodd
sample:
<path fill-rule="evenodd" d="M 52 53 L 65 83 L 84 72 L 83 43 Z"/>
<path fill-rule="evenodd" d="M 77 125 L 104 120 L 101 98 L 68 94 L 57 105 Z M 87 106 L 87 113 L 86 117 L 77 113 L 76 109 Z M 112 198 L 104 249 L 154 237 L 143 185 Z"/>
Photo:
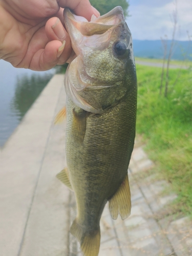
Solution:
<path fill-rule="evenodd" d="M 129 14 L 126 23 L 133 39 L 159 40 L 167 36 L 172 39 L 173 11 L 177 6 L 177 40 L 192 40 L 192 0 L 129 0 Z"/>

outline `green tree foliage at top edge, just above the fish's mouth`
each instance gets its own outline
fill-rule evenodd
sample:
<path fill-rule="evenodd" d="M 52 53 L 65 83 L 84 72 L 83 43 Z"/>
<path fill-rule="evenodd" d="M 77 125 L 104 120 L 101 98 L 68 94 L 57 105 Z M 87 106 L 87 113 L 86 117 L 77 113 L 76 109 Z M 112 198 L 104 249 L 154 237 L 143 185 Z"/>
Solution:
<path fill-rule="evenodd" d="M 128 16 L 129 2 L 126 0 L 90 0 L 92 6 L 94 6 L 101 15 L 111 11 L 116 6 L 121 6 L 124 11 L 124 16 Z"/>

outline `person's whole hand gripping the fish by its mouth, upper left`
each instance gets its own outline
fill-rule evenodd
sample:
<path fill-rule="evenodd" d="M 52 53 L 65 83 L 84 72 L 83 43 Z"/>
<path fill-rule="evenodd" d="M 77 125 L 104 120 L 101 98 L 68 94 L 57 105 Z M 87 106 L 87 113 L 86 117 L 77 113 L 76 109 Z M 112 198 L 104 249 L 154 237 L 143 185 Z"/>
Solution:
<path fill-rule="evenodd" d="M 99 16 L 89 0 L 0 0 L 0 59 L 37 71 L 65 63 L 72 52 L 65 7 L 88 20 Z"/>

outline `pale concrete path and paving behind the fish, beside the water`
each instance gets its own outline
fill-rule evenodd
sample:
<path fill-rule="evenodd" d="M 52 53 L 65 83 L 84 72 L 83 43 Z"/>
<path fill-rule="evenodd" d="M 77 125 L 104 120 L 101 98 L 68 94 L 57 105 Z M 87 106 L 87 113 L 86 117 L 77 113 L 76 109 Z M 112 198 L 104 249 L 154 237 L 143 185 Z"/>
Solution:
<path fill-rule="evenodd" d="M 65 163 L 65 123 L 54 125 L 65 105 L 63 75 L 55 75 L 1 151 L 0 255 L 80 256 L 69 233 L 76 216 L 74 195 L 55 175 Z M 164 195 L 154 167 L 136 143 L 129 168 L 132 214 L 101 217 L 99 256 L 192 255 L 191 222 L 161 215 L 177 195 Z"/>

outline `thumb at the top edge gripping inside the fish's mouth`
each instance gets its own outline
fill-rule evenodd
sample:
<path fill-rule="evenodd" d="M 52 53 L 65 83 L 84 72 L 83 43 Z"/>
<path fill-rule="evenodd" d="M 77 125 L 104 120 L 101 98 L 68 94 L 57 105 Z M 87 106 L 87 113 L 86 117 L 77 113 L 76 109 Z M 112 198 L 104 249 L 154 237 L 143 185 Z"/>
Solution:
<path fill-rule="evenodd" d="M 96 17 L 100 15 L 99 12 L 91 6 L 89 0 L 59 0 L 57 3 L 60 7 L 68 7 L 73 10 L 76 15 L 83 16 L 89 21 L 93 14 Z"/>

